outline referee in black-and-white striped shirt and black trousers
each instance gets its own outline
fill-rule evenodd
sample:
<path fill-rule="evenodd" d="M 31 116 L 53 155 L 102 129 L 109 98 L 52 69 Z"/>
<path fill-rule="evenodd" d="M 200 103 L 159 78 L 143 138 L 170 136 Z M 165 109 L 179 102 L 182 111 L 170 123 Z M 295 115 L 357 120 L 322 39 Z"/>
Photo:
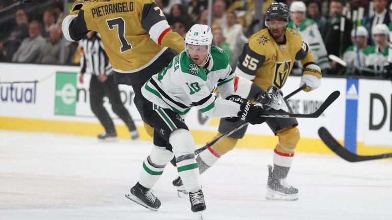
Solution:
<path fill-rule="evenodd" d="M 100 34 L 90 31 L 86 37 L 79 41 L 79 46 L 82 49 L 80 61 L 82 70 L 79 81 L 83 84 L 84 73 L 91 74 L 89 90 L 91 110 L 105 128 L 105 132 L 98 135 L 98 139 L 110 140 L 117 137 L 114 123 L 103 105 L 105 95 L 109 98 L 113 112 L 127 125 L 131 132 L 131 139 L 138 139 L 139 133 L 135 123 L 121 102 L 118 85 L 114 82 L 113 69 Z"/>

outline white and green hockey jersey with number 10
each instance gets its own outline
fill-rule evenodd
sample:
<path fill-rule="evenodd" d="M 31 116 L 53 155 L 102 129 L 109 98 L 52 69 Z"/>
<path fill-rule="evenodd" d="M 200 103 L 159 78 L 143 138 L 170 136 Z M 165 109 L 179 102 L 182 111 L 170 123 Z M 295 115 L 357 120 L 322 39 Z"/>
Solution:
<path fill-rule="evenodd" d="M 217 46 L 212 46 L 211 57 L 208 66 L 201 68 L 182 51 L 144 84 L 143 96 L 183 118 L 191 107 L 197 107 L 211 118 L 237 116 L 240 105 L 224 100 L 234 95 L 234 74 L 229 58 L 225 50 Z M 216 88 L 222 99 L 214 95 Z"/>

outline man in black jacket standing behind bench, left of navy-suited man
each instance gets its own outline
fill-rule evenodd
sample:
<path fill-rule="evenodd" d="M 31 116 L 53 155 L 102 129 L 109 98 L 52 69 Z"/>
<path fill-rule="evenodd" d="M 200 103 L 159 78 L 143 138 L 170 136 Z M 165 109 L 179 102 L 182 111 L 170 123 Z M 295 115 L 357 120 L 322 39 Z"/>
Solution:
<path fill-rule="evenodd" d="M 343 52 L 352 44 L 351 30 L 353 23 L 350 19 L 342 15 L 343 3 L 342 0 L 331 0 L 330 3 L 330 17 L 327 20 L 324 30 L 324 43 L 328 54 L 334 54 L 342 58 Z M 344 29 L 341 29 L 341 21 L 345 20 Z"/>

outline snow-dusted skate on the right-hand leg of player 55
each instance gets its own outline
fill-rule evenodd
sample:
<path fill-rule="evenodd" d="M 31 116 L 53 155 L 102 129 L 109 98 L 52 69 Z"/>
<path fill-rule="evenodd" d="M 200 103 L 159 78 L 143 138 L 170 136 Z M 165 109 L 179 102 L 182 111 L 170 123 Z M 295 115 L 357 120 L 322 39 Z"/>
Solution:
<path fill-rule="evenodd" d="M 298 200 L 298 188 L 294 188 L 287 184 L 285 178 L 287 177 L 290 168 L 280 167 L 274 164 L 274 171 L 272 166 L 268 165 L 268 182 L 267 194 L 265 196 L 268 200 Z"/>

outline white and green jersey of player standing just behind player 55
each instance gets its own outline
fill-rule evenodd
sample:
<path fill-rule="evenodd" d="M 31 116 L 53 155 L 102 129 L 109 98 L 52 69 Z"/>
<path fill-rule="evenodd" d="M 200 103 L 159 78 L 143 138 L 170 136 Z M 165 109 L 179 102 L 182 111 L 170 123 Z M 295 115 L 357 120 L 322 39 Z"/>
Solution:
<path fill-rule="evenodd" d="M 295 29 L 301 33 L 302 39 L 309 44 L 309 47 L 312 50 L 312 55 L 317 66 L 322 70 L 331 68 L 324 40 L 321 37 L 317 23 L 314 20 L 305 18 L 300 26 L 297 26 L 295 22 L 290 21 L 287 28 Z"/>

